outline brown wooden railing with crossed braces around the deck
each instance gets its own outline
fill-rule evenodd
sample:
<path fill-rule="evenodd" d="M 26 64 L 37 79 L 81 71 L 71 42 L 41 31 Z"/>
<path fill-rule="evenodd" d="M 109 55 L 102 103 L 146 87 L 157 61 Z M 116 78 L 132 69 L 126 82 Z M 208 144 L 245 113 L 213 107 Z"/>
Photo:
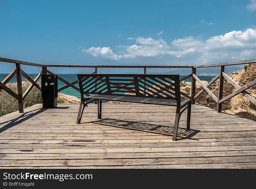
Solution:
<path fill-rule="evenodd" d="M 234 62 L 226 62 L 226 63 L 215 63 L 215 64 L 208 64 L 208 65 L 201 65 L 201 66 L 107 66 L 107 65 L 47 65 L 47 64 L 38 64 L 38 63 L 31 63 L 31 62 L 25 62 L 25 61 L 19 61 L 19 60 L 13 60 L 13 59 L 7 59 L 0 57 L 0 62 L 8 62 L 8 63 L 15 63 L 14 70 L 2 81 L 0 82 L 0 90 L 3 89 L 6 92 L 8 92 L 12 97 L 17 99 L 19 103 L 19 112 L 23 113 L 23 101 L 26 98 L 26 96 L 29 94 L 31 89 L 35 86 L 41 91 L 41 87 L 36 83 L 38 79 L 40 79 L 41 74 L 54 74 L 53 72 L 49 71 L 48 69 L 51 67 L 65 67 L 65 68 L 95 68 L 95 71 L 93 73 L 97 73 L 98 68 L 143 68 L 144 74 L 147 74 L 147 68 L 190 68 L 191 74 L 188 76 L 180 79 L 181 81 L 184 81 L 190 77 L 191 78 L 191 96 L 188 96 L 181 92 L 181 95 L 191 99 L 192 103 L 195 103 L 195 99 L 197 99 L 203 91 L 206 91 L 211 98 L 217 103 L 217 112 L 221 112 L 222 110 L 222 104 L 223 102 L 231 99 L 232 97 L 242 93 L 246 98 L 248 98 L 255 106 L 256 106 L 256 99 L 253 98 L 246 90 L 256 84 L 256 79 L 248 83 L 247 85 L 241 87 L 236 81 L 234 81 L 232 78 L 230 78 L 225 73 L 225 66 L 231 66 L 231 65 L 239 65 L 239 64 L 247 64 L 247 63 L 256 63 L 256 59 L 251 60 L 243 60 L 243 61 L 234 61 Z M 29 77 L 28 74 L 26 74 L 22 69 L 21 65 L 29 65 L 29 66 L 39 66 L 42 67 L 42 71 L 37 75 L 37 77 L 33 80 L 31 77 Z M 214 77 L 207 85 L 205 85 L 197 76 L 196 76 L 196 69 L 197 68 L 209 68 L 209 67 L 216 67 L 220 66 L 220 73 Z M 17 78 L 17 91 L 18 94 L 13 92 L 10 88 L 6 86 L 8 81 L 10 81 L 11 78 L 14 77 L 16 74 Z M 31 82 L 31 85 L 29 88 L 23 93 L 22 91 L 22 75 L 28 79 Z M 237 90 L 235 92 L 232 92 L 230 95 L 227 95 L 226 97 L 223 97 L 223 83 L 224 78 L 227 79 Z M 218 97 L 216 97 L 213 92 L 209 89 L 209 86 L 211 86 L 217 79 L 219 79 L 219 86 L 218 86 Z M 68 88 L 72 87 L 75 90 L 79 91 L 79 88 L 74 86 L 74 84 L 78 83 L 77 80 L 73 81 L 72 83 L 66 81 L 65 79 L 58 76 L 58 80 L 62 81 L 66 85 L 59 88 L 58 92 Z M 200 90 L 197 94 L 195 94 L 195 82 L 198 81 L 198 83 L 202 86 L 202 90 Z M 79 91 L 80 92 L 80 91 Z"/>

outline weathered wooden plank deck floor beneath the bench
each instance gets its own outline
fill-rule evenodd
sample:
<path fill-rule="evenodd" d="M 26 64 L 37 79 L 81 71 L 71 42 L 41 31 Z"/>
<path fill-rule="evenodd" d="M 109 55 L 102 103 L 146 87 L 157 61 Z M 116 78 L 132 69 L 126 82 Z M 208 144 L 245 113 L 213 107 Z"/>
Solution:
<path fill-rule="evenodd" d="M 256 122 L 192 105 L 172 141 L 175 107 L 42 104 L 0 117 L 0 168 L 256 168 Z"/>

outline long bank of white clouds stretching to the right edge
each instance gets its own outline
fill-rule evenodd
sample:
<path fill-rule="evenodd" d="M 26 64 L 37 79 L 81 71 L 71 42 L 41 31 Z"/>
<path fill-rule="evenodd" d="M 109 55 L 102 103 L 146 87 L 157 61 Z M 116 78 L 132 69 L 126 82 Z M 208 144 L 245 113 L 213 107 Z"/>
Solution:
<path fill-rule="evenodd" d="M 256 54 L 256 29 L 245 31 L 231 31 L 224 35 L 211 36 L 208 39 L 192 36 L 173 40 L 170 45 L 163 39 L 137 37 L 136 44 L 120 45 L 120 50 L 115 54 L 109 47 L 91 47 L 85 51 L 94 57 L 120 60 L 126 58 L 166 58 L 169 61 L 190 64 L 203 64 L 223 62 L 230 60 L 243 60 L 255 58 Z"/>

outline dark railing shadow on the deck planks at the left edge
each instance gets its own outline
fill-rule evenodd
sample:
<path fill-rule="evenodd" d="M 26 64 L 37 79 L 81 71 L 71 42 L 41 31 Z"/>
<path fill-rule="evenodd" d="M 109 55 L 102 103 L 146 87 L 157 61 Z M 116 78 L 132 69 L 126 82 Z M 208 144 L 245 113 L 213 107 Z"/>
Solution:
<path fill-rule="evenodd" d="M 7 123 L 7 124 L 0 128 L 0 133 L 9 129 L 9 128 L 12 128 L 13 126 L 16 126 L 19 123 L 22 123 L 23 121 L 28 120 L 31 117 L 34 117 L 35 115 L 38 115 L 38 114 L 40 114 L 40 113 L 42 113 L 46 110 L 48 110 L 48 109 L 38 108 L 38 109 L 35 109 L 35 110 L 31 110 L 29 112 L 22 113 L 21 115 L 19 115 L 18 117 L 14 118 L 14 119 L 10 119 L 8 121 L 1 122 L 0 127 L 4 123 Z M 36 112 L 34 112 L 34 111 L 36 111 Z M 31 113 L 31 112 L 33 112 L 33 113 Z"/>

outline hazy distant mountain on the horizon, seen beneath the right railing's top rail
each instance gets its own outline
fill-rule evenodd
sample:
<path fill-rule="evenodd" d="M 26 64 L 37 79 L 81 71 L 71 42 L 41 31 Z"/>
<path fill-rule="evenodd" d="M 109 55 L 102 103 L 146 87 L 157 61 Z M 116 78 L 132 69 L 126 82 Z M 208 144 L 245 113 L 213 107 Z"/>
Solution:
<path fill-rule="evenodd" d="M 235 72 L 237 70 L 241 70 L 241 67 L 238 66 L 226 66 L 225 67 L 225 73 L 230 74 L 232 72 Z M 210 68 L 198 68 L 196 69 L 197 75 L 217 75 L 220 72 L 220 67 L 210 67 Z M 148 74 L 159 74 L 155 72 L 151 72 Z M 191 69 L 188 68 L 178 68 L 174 70 L 170 70 L 168 72 L 164 72 L 161 74 L 179 74 L 179 75 L 189 75 L 191 74 Z"/>

